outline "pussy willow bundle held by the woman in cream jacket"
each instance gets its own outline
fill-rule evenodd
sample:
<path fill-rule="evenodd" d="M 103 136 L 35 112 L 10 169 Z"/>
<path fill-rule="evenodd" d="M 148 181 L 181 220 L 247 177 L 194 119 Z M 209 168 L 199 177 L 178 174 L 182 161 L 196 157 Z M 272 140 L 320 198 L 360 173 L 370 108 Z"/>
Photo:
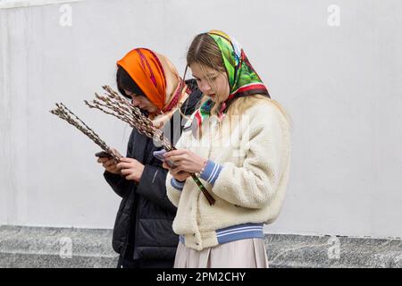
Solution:
<path fill-rule="evenodd" d="M 155 128 L 154 124 L 141 113 L 137 106 L 130 103 L 129 100 L 121 97 L 116 91 L 108 86 L 103 86 L 105 89 L 105 95 L 99 96 L 95 94 L 96 99 L 88 102 L 85 100 L 85 104 L 90 108 L 96 108 L 104 112 L 105 114 L 111 114 L 119 118 L 123 122 L 127 122 L 131 127 L 138 130 L 139 133 L 146 135 L 148 138 L 154 139 L 156 143 L 159 143 L 166 151 L 176 150 L 176 147 L 172 145 L 169 139 L 166 139 L 163 135 L 163 131 Z M 210 205 L 214 205 L 215 199 L 211 196 L 208 190 L 197 178 L 196 174 L 191 174 L 192 179 L 197 183 L 198 188 L 203 192 L 205 198 Z"/>

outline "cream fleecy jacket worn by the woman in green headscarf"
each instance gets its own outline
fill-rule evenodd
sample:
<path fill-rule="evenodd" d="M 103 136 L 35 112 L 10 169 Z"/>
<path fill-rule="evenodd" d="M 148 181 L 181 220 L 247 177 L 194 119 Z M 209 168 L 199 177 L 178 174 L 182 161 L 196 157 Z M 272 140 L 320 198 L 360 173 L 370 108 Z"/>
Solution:
<path fill-rule="evenodd" d="M 218 244 L 218 229 L 272 223 L 281 210 L 290 161 L 289 124 L 278 108 L 258 101 L 241 119 L 232 117 L 231 122 L 238 124 L 231 131 L 228 118 L 219 123 L 212 116 L 203 122 L 201 139 L 193 137 L 191 122 L 184 127 L 176 147 L 221 164 L 222 171 L 214 186 L 201 180 L 216 199 L 214 206 L 191 178 L 179 190 L 172 187 L 168 173 L 167 195 L 178 207 L 173 231 L 184 236 L 188 248 L 202 250 Z M 221 128 L 217 124 L 222 124 Z"/>

